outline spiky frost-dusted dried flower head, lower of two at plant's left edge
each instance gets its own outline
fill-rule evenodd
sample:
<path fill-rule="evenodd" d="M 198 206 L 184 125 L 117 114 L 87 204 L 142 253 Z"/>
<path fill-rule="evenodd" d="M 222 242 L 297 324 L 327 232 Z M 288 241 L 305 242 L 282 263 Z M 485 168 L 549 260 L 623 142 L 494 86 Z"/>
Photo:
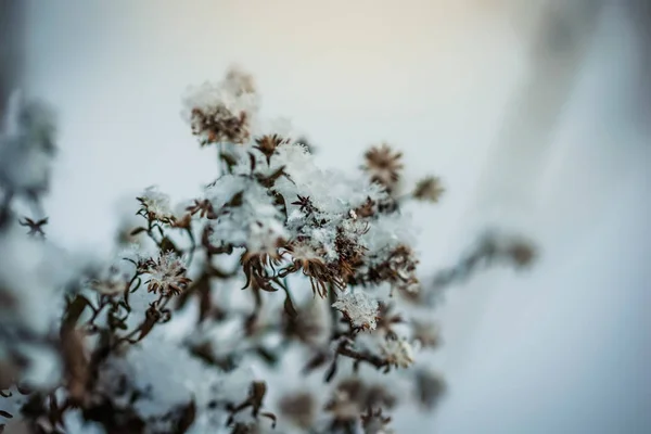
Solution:
<path fill-rule="evenodd" d="M 156 260 L 151 259 L 148 265 L 150 279 L 145 283 L 150 292 L 159 292 L 165 296 L 178 295 L 191 282 L 186 277 L 183 261 L 174 252 L 162 252 Z"/>

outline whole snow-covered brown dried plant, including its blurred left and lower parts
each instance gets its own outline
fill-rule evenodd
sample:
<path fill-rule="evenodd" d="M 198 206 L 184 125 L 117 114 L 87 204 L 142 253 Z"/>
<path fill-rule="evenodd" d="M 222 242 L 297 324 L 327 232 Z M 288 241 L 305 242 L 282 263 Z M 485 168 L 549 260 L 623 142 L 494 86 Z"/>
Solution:
<path fill-rule="evenodd" d="M 321 168 L 258 105 L 237 69 L 193 89 L 184 116 L 216 151 L 215 178 L 178 205 L 145 189 L 115 256 L 80 260 L 50 244 L 42 215 L 18 217 L 40 212 L 54 148 L 47 112 L 17 104 L 0 142 L 0 426 L 379 434 L 400 406 L 436 406 L 442 290 L 485 265 L 526 266 L 532 247 L 490 234 L 422 278 L 404 205 L 437 202 L 441 180 L 400 193 L 386 143 L 358 173 Z"/>

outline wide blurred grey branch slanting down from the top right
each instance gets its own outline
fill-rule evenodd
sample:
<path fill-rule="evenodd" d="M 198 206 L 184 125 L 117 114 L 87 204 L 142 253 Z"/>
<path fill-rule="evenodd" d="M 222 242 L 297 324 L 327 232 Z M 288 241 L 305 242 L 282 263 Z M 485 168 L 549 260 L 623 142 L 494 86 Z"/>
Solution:
<path fill-rule="evenodd" d="M 496 200 L 499 205 L 533 205 L 552 135 L 591 46 L 603 5 L 604 0 L 553 0 L 544 7 L 523 82 L 507 108 L 481 179 L 480 206 Z"/>

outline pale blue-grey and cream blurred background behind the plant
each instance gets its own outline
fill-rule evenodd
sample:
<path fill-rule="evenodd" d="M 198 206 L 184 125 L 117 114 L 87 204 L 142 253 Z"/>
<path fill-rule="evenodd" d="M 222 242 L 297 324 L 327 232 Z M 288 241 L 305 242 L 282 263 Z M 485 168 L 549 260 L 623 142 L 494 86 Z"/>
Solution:
<path fill-rule="evenodd" d="M 180 117 L 190 85 L 257 78 L 323 165 L 386 140 L 408 182 L 423 275 L 485 228 L 540 247 L 435 312 L 449 393 L 398 432 L 651 432 L 651 2 L 648 0 L 0 0 L 0 112 L 53 104 L 49 237 L 110 250 L 117 204 L 150 184 L 195 194 L 215 174 Z M 135 204 L 135 202 L 133 202 Z M 100 229 L 98 229 L 100 228 Z M 414 412 L 416 413 L 416 412 Z"/>

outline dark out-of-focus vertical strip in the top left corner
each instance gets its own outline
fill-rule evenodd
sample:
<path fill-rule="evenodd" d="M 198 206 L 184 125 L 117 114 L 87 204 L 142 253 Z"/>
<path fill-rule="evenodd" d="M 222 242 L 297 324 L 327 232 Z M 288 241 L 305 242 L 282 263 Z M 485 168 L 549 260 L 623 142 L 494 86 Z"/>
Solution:
<path fill-rule="evenodd" d="M 24 2 L 0 0 L 0 118 L 23 69 Z"/>

